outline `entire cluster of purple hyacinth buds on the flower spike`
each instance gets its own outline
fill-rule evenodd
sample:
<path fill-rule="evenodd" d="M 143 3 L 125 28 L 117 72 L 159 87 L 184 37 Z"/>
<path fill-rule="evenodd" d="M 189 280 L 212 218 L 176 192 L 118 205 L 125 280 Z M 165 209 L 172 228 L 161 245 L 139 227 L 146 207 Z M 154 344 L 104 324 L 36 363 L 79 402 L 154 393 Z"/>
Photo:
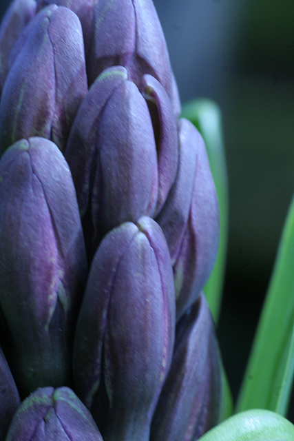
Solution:
<path fill-rule="evenodd" d="M 0 439 L 196 440 L 218 201 L 154 4 L 13 0 L 0 59 Z"/>

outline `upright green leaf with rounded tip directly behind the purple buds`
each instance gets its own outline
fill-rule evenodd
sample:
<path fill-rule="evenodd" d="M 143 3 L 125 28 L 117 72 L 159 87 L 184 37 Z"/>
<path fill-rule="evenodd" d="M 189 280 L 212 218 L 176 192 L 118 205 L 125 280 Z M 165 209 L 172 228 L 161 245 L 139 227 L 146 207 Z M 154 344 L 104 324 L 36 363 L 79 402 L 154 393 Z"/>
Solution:
<path fill-rule="evenodd" d="M 227 168 L 222 136 L 222 119 L 218 105 L 208 99 L 196 99 L 184 105 L 182 108 L 182 117 L 189 119 L 203 136 L 220 205 L 220 243 L 218 256 L 211 276 L 204 287 L 207 302 L 213 318 L 217 323 L 227 255 L 229 217 Z"/>

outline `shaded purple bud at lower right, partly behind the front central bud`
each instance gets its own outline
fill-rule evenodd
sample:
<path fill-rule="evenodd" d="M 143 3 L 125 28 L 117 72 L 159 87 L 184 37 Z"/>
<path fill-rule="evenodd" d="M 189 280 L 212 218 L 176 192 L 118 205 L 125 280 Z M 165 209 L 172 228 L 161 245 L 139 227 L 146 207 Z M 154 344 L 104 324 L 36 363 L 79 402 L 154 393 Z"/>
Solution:
<path fill-rule="evenodd" d="M 193 441 L 218 424 L 221 361 L 204 294 L 176 327 L 171 368 L 151 424 L 150 441 Z"/>

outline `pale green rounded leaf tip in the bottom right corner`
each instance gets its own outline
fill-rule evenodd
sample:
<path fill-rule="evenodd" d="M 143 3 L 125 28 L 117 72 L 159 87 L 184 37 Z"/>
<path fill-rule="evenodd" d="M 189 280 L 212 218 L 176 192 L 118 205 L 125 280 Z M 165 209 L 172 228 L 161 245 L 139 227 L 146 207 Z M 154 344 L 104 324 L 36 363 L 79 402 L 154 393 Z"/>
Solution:
<path fill-rule="evenodd" d="M 227 418 L 198 441 L 293 441 L 294 426 L 264 409 L 251 409 Z"/>

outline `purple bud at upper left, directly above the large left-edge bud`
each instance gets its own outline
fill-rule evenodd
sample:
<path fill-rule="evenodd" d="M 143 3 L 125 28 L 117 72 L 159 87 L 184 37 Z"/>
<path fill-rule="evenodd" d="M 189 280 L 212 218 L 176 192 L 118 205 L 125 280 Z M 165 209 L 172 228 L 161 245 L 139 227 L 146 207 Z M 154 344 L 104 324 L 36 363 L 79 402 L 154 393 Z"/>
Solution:
<path fill-rule="evenodd" d="M 51 139 L 63 150 L 87 93 L 81 23 L 71 10 L 50 5 L 23 33 L 1 95 L 1 150 L 30 136 Z"/>

